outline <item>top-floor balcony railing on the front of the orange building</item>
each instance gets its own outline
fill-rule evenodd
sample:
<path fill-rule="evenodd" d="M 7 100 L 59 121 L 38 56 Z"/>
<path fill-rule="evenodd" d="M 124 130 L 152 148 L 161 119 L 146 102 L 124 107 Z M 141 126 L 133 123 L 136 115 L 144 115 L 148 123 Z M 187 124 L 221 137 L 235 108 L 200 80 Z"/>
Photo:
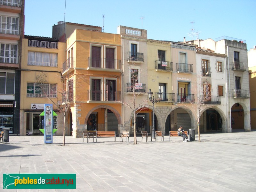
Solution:
<path fill-rule="evenodd" d="M 88 64 L 90 68 L 121 69 L 121 60 L 117 59 L 88 57 Z"/>

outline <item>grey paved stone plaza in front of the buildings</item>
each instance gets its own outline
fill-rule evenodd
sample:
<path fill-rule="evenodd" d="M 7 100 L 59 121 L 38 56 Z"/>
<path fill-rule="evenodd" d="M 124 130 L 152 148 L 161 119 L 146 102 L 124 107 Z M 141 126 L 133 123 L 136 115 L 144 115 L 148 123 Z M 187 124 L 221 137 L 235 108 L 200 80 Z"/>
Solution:
<path fill-rule="evenodd" d="M 3 173 L 76 173 L 76 189 L 5 189 L 6 191 L 256 191 L 256 132 L 201 134 L 201 143 L 165 136 L 138 145 L 98 138 L 10 136 L 0 144 Z M 196 140 L 197 140 L 196 135 Z M 96 139 L 94 140 L 96 141 Z"/>

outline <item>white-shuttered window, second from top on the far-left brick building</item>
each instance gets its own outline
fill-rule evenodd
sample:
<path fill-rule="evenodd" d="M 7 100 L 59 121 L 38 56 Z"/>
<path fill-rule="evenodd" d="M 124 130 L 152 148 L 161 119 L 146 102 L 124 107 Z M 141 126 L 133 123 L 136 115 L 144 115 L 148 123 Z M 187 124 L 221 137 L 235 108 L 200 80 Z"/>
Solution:
<path fill-rule="evenodd" d="M 19 34 L 19 18 L 0 16 L 0 32 L 7 34 Z"/>

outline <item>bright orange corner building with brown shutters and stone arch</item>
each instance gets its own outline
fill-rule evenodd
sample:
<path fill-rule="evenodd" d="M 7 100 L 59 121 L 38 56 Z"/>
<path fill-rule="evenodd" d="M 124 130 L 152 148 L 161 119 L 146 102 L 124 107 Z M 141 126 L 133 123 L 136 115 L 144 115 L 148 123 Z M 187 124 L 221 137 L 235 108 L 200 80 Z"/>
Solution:
<path fill-rule="evenodd" d="M 73 103 L 68 130 L 116 131 L 121 127 L 121 38 L 117 34 L 76 29 L 67 38 L 62 76 Z M 63 104 L 63 103 L 62 103 Z"/>

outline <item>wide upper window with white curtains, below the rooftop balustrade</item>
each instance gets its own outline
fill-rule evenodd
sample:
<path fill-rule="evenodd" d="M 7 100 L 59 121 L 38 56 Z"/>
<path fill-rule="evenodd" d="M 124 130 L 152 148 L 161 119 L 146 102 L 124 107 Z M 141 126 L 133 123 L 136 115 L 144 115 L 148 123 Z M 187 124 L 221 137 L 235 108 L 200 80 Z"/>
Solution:
<path fill-rule="evenodd" d="M 57 67 L 58 54 L 44 52 L 28 52 L 28 65 Z"/>

